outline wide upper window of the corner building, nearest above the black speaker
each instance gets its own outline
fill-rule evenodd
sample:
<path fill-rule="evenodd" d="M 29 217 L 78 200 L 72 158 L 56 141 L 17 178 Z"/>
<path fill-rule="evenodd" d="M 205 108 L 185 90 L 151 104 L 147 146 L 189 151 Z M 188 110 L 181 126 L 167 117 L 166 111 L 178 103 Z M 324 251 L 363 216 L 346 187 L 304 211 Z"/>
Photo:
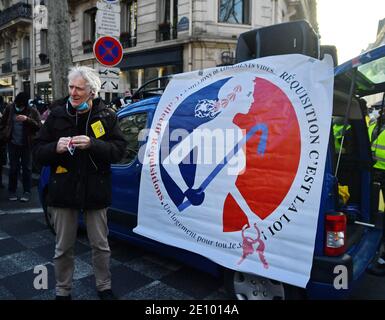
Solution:
<path fill-rule="evenodd" d="M 218 21 L 250 24 L 250 0 L 219 0 Z"/>

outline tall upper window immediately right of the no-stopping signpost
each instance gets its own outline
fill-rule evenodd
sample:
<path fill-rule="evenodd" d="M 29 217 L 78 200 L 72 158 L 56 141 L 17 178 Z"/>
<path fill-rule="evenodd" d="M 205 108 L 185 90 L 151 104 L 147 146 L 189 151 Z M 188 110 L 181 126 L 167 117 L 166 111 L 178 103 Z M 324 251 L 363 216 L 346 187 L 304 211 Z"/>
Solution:
<path fill-rule="evenodd" d="M 136 46 L 138 1 L 126 0 L 121 3 L 120 41 L 123 48 Z"/>

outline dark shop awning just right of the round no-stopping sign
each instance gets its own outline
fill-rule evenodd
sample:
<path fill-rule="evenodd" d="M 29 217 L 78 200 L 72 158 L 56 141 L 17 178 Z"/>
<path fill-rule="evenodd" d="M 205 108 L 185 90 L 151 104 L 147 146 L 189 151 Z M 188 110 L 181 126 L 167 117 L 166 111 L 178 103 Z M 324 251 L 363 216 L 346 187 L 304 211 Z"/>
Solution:
<path fill-rule="evenodd" d="M 117 67 L 121 70 L 130 70 L 179 64 L 183 64 L 183 46 L 126 53 Z"/>

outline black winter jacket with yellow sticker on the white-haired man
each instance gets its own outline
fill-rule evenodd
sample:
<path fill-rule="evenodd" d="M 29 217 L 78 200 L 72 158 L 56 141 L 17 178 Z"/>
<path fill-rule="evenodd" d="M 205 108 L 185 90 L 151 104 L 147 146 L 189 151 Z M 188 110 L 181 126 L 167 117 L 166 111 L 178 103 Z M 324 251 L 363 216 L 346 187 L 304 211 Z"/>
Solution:
<path fill-rule="evenodd" d="M 48 206 L 101 209 L 111 204 L 111 163 L 122 158 L 126 140 L 116 114 L 107 109 L 101 99 L 93 100 L 90 112 L 87 132 L 80 132 L 75 114 L 68 112 L 66 99 L 63 99 L 52 109 L 38 134 L 33 149 L 35 161 L 51 168 Z M 98 134 L 100 123 L 103 129 Z M 83 134 L 90 137 L 90 148 L 75 149 L 73 155 L 56 152 L 60 137 Z"/>

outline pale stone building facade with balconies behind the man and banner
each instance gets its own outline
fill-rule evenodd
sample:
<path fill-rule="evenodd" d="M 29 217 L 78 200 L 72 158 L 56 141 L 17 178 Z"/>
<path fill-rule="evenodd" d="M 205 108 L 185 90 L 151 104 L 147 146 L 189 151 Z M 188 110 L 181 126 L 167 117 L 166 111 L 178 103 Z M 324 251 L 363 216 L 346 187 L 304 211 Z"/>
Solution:
<path fill-rule="evenodd" d="M 51 98 L 44 0 L 0 0 L 0 95 L 30 91 Z M 102 1 L 102 0 L 99 0 Z M 238 35 L 307 19 L 316 30 L 315 0 L 121 0 L 124 56 L 119 83 L 102 89 L 109 101 L 155 77 L 234 61 Z M 96 0 L 68 0 L 73 63 L 99 68 L 93 55 Z M 32 19 L 34 18 L 34 19 Z"/>

